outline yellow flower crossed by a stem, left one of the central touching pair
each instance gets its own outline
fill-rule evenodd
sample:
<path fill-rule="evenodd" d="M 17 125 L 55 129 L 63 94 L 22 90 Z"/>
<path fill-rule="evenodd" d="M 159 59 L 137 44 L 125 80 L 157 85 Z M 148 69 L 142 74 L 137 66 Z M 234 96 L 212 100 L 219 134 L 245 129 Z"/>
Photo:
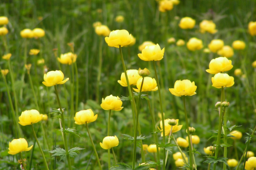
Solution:
<path fill-rule="evenodd" d="M 138 73 L 138 70 L 126 70 L 128 80 L 130 85 L 136 85 L 137 81 L 140 79 L 140 75 Z M 117 82 L 122 86 L 122 87 L 127 87 L 127 82 L 126 82 L 126 75 L 124 73 L 121 74 L 121 80 L 118 80 Z"/>

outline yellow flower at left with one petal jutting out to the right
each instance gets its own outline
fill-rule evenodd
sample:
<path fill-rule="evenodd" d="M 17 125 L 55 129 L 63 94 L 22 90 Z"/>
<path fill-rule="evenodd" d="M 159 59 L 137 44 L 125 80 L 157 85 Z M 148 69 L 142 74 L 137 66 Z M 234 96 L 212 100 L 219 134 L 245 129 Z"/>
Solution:
<path fill-rule="evenodd" d="M 45 73 L 43 76 L 43 84 L 47 87 L 52 87 L 57 84 L 64 84 L 69 80 L 69 78 L 64 79 L 64 74 L 60 70 L 56 71 L 50 71 L 48 73 Z"/>

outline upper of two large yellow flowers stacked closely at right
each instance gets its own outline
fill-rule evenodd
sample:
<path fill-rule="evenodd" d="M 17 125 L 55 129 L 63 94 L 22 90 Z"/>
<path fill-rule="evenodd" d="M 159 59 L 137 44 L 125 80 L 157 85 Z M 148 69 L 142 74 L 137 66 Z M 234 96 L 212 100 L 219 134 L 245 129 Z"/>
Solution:
<path fill-rule="evenodd" d="M 211 74 L 223 73 L 233 68 L 232 61 L 226 57 L 220 56 L 216 59 L 212 59 L 209 63 L 209 69 L 206 72 Z"/>

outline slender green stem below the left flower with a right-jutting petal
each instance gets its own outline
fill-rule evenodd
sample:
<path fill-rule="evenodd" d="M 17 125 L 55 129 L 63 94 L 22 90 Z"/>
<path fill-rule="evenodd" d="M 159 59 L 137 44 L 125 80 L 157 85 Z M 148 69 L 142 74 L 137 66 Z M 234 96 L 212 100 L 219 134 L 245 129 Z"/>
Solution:
<path fill-rule="evenodd" d="M 60 98 L 59 98 L 59 95 L 57 93 L 57 86 L 55 85 L 54 86 L 54 89 L 55 89 L 55 93 L 56 93 L 56 97 L 57 97 L 57 103 L 59 104 L 59 107 L 60 107 L 60 110 L 61 110 L 61 132 L 62 132 L 62 135 L 63 135 L 63 141 L 64 141 L 64 147 L 65 147 L 65 151 L 66 151 L 66 155 L 67 155 L 67 164 L 68 164 L 68 169 L 71 170 L 71 159 L 70 159 L 70 155 L 69 155 L 69 152 L 68 152 L 68 148 L 67 148 L 67 138 L 66 138 L 66 134 L 65 134 L 65 123 L 64 123 L 64 111 L 62 110 L 62 107 L 61 107 L 61 102 L 60 102 Z"/>

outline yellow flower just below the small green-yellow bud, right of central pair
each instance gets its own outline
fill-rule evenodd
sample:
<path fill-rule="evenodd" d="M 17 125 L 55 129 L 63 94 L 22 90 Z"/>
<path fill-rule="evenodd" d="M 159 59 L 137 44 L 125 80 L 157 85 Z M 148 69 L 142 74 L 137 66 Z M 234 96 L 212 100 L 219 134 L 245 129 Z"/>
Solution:
<path fill-rule="evenodd" d="M 137 89 L 133 88 L 134 91 L 140 92 L 140 87 L 141 87 L 142 80 L 143 80 L 143 78 L 141 77 L 137 81 Z M 141 91 L 145 92 L 145 91 L 156 91 L 156 90 L 158 90 L 157 81 L 154 80 L 154 78 L 151 78 L 149 76 L 145 76 L 144 77 L 144 83 L 143 83 L 143 86 L 141 88 Z"/>

